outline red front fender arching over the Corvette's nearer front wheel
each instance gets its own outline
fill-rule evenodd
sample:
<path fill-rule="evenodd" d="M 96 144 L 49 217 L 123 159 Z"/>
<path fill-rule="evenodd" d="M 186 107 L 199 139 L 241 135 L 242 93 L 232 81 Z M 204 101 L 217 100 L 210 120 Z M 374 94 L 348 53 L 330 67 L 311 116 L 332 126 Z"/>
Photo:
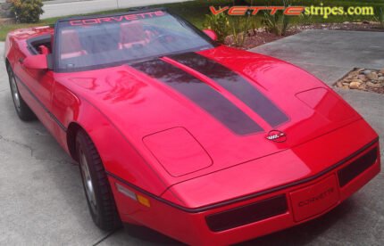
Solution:
<path fill-rule="evenodd" d="M 160 195 L 166 185 L 142 156 L 137 146 L 129 142 L 113 122 L 79 94 L 55 82 L 53 95 L 54 115 L 68 128 L 77 124 L 84 129 L 96 146 L 107 173 L 121 177 L 154 195 Z M 59 142 L 68 146 L 67 131 L 61 130 Z M 70 152 L 69 148 L 66 148 Z"/>

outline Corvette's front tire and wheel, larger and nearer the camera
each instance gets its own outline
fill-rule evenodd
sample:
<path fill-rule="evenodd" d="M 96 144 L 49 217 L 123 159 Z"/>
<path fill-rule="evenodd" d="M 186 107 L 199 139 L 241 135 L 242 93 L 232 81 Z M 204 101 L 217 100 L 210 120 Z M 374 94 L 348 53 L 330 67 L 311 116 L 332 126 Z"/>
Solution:
<path fill-rule="evenodd" d="M 103 162 L 89 136 L 79 130 L 76 135 L 79 169 L 88 208 L 95 224 L 104 231 L 121 227 L 121 219 L 113 198 Z"/>

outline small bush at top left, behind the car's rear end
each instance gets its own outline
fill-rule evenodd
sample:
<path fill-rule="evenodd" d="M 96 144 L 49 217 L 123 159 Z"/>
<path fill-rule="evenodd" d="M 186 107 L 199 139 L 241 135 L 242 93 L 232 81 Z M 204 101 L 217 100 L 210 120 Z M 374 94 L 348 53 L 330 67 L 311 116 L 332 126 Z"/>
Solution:
<path fill-rule="evenodd" d="M 12 11 L 16 20 L 22 23 L 35 23 L 43 11 L 42 0 L 12 0 Z"/>

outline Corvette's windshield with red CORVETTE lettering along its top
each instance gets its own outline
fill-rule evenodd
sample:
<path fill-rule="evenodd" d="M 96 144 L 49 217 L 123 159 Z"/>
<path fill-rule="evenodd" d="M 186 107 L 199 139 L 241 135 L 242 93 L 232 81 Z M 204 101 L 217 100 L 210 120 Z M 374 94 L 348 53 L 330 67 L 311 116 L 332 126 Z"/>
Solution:
<path fill-rule="evenodd" d="M 186 21 L 164 11 L 59 21 L 55 38 L 58 71 L 92 70 L 213 47 Z"/>

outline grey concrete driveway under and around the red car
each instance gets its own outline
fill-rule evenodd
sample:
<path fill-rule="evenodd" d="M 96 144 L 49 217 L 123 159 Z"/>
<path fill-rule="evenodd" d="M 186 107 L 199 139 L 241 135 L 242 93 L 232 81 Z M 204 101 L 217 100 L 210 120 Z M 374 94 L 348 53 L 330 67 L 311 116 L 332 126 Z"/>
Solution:
<path fill-rule="evenodd" d="M 384 67 L 383 39 L 384 33 L 305 31 L 254 51 L 296 63 L 330 85 L 353 67 Z M 3 50 L 4 43 L 0 43 L 0 53 Z M 376 128 L 383 146 L 384 96 L 338 93 Z M 93 225 L 79 168 L 38 121 L 24 123 L 17 118 L 4 61 L 0 61 L 0 114 L 1 245 L 178 243 L 144 227 L 127 226 L 107 234 Z M 244 244 L 383 245 L 382 187 L 384 177 L 380 174 L 327 215 Z"/>

